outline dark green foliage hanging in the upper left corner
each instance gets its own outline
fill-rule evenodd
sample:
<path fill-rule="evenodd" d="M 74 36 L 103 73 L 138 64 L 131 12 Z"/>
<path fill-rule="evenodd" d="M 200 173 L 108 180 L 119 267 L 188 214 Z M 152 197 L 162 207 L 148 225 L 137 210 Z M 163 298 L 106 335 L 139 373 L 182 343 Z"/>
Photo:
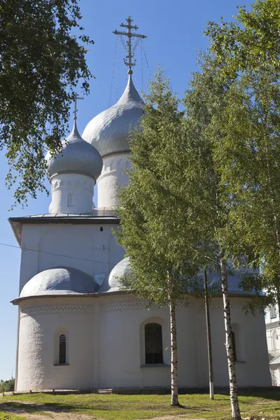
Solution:
<path fill-rule="evenodd" d="M 91 76 L 78 0 L 8 0 L 0 5 L 0 148 L 15 202 L 45 190 L 45 151 L 61 149 L 73 90 Z"/>

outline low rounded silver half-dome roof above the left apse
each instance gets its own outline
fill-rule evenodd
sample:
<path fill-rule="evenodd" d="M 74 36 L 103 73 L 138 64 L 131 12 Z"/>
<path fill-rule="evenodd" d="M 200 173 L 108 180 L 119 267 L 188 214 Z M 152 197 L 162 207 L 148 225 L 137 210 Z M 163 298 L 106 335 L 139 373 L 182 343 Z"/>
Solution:
<path fill-rule="evenodd" d="M 55 267 L 32 277 L 22 288 L 20 297 L 43 295 L 80 295 L 94 293 L 99 286 L 92 276 L 71 267 Z"/>

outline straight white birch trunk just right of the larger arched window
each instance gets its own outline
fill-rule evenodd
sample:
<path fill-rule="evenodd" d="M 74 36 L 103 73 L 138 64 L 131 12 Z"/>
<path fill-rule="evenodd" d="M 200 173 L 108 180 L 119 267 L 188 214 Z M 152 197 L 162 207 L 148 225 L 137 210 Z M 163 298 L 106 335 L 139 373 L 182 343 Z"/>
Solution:
<path fill-rule="evenodd" d="M 170 278 L 168 280 L 170 281 Z M 180 406 L 180 404 L 178 400 L 176 306 L 172 297 L 171 290 L 169 290 L 169 317 L 170 317 L 170 339 L 171 339 L 171 405 L 172 407 L 178 407 Z"/>

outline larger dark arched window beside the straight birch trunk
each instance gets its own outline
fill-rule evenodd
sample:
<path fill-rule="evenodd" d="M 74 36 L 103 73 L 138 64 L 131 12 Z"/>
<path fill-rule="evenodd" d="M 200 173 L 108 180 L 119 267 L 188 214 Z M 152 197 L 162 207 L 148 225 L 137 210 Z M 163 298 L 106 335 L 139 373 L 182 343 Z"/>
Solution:
<path fill-rule="evenodd" d="M 158 323 L 145 325 L 145 363 L 163 363 L 162 326 Z"/>

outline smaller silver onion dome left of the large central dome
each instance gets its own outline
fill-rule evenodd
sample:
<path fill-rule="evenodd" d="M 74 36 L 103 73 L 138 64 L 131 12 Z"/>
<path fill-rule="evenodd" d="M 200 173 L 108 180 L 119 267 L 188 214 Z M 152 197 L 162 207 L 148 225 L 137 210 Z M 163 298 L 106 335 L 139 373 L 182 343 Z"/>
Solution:
<path fill-rule="evenodd" d="M 96 148 L 80 137 L 76 120 L 71 134 L 62 144 L 63 149 L 59 155 L 51 156 L 48 152 L 45 156 L 50 176 L 74 172 L 97 180 L 102 172 L 102 157 Z"/>

